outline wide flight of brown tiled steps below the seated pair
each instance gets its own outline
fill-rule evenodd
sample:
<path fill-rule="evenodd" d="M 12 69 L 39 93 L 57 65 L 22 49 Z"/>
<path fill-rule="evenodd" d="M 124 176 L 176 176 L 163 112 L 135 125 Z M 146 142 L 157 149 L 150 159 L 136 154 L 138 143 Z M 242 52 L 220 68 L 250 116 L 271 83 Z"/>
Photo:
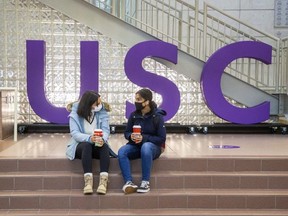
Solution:
<path fill-rule="evenodd" d="M 288 158 L 161 157 L 147 194 L 124 195 L 119 170 L 111 159 L 108 193 L 84 196 L 79 160 L 2 158 L 0 215 L 288 215 Z"/>

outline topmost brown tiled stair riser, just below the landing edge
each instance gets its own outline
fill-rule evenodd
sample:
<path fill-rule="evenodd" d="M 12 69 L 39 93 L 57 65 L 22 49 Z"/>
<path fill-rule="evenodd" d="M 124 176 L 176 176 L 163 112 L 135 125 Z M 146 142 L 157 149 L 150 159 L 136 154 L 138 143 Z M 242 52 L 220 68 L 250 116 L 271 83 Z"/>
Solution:
<path fill-rule="evenodd" d="M 94 170 L 99 169 L 99 161 L 93 163 Z M 141 161 L 131 162 L 132 171 L 141 171 Z M 111 159 L 110 171 L 119 171 L 118 160 Z M 73 171 L 81 172 L 80 160 L 69 161 L 66 158 L 38 159 L 0 159 L 0 172 L 11 171 Z M 154 161 L 152 172 L 158 171 L 288 171 L 287 157 L 242 157 L 242 158 L 167 158 Z"/>

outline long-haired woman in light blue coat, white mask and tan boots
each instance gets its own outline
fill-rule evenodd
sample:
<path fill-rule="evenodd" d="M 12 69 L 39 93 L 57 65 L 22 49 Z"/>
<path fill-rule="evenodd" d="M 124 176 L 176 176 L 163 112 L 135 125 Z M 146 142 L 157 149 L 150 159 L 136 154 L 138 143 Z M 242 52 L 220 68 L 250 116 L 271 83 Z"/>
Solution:
<path fill-rule="evenodd" d="M 95 91 L 86 91 L 79 102 L 70 104 L 69 127 L 71 140 L 66 149 L 70 160 L 82 160 L 84 194 L 93 193 L 92 159 L 100 160 L 100 180 L 97 193 L 106 194 L 110 165 L 108 138 L 110 135 L 109 108 Z M 102 130 L 102 136 L 95 134 Z"/>

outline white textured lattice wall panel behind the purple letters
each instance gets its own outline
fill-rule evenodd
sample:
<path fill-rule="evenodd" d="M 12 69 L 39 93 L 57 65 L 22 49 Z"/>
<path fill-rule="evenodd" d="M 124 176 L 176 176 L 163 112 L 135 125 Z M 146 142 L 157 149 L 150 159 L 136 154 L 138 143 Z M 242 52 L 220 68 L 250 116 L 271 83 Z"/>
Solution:
<path fill-rule="evenodd" d="M 18 90 L 18 123 L 45 122 L 31 109 L 27 97 L 26 40 L 46 41 L 45 92 L 47 100 L 58 107 L 79 98 L 80 41 L 99 41 L 99 92 L 112 107 L 111 124 L 127 121 L 125 101 L 133 102 L 134 93 L 140 88 L 124 72 L 129 47 L 37 0 L 0 0 L 0 20 L 0 86 Z M 207 108 L 198 82 L 152 59 L 145 59 L 143 68 L 167 77 L 179 88 L 181 105 L 168 123 L 223 122 Z M 161 95 L 154 93 L 154 98 L 161 104 Z"/>

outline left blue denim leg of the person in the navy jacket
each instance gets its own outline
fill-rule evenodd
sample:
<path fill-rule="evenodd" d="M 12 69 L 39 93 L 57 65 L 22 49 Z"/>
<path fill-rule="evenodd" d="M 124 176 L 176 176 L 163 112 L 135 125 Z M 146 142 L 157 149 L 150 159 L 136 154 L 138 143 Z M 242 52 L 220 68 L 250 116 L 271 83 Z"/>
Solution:
<path fill-rule="evenodd" d="M 140 146 L 126 144 L 118 150 L 118 162 L 124 181 L 132 181 L 130 160 L 140 158 Z"/>

